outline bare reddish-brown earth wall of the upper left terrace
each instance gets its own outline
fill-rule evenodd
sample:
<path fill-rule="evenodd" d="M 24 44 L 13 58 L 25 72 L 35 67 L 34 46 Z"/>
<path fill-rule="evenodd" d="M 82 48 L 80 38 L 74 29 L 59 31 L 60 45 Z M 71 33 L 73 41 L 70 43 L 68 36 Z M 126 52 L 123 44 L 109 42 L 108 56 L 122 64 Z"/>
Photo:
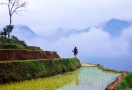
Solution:
<path fill-rule="evenodd" d="M 0 50 L 0 61 L 60 58 L 57 52 L 31 50 Z"/>

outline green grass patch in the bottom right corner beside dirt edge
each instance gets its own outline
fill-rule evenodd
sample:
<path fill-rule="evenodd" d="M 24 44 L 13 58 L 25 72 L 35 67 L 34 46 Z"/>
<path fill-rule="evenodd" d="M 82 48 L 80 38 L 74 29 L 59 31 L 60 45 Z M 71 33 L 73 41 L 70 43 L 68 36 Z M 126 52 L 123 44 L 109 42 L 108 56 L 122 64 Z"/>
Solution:
<path fill-rule="evenodd" d="M 125 90 L 132 88 L 132 72 L 124 76 L 122 81 L 118 83 L 115 88 Z"/>

